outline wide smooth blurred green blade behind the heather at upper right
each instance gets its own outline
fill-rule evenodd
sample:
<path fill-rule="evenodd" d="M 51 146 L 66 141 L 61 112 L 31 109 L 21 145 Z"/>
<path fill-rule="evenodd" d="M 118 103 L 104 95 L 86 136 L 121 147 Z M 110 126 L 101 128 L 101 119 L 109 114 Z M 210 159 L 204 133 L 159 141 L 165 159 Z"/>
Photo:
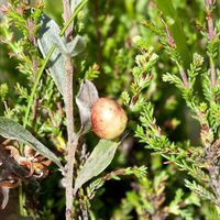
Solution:
<path fill-rule="evenodd" d="M 165 18 L 169 19 L 169 21 L 173 21 L 167 22 L 168 29 L 170 31 L 172 36 L 174 37 L 179 55 L 184 62 L 185 68 L 189 68 L 191 57 L 188 51 L 186 35 L 184 33 L 184 28 L 182 25 L 179 16 L 173 7 L 172 0 L 156 0 L 156 3 L 158 6 L 158 9 L 165 15 Z"/>

